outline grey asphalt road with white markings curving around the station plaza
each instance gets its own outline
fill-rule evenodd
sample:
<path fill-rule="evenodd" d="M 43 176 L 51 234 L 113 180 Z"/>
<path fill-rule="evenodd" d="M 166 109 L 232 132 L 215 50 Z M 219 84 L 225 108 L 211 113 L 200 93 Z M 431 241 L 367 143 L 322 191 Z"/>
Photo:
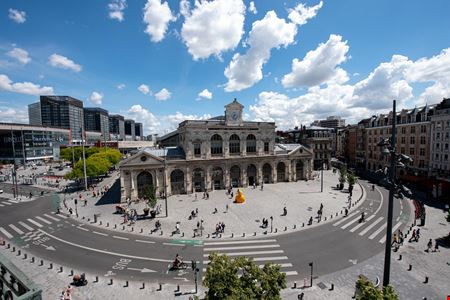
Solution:
<path fill-rule="evenodd" d="M 320 276 L 345 269 L 384 250 L 382 237 L 386 230 L 382 226 L 386 223 L 388 194 L 381 187 L 371 191 L 365 182 L 362 184 L 366 187 L 367 200 L 354 215 L 335 217 L 333 222 L 321 226 L 265 239 L 217 240 L 202 245 L 179 238 L 170 240 L 110 231 L 54 214 L 56 195 L 0 207 L 0 237 L 56 264 L 126 280 L 192 282 L 193 271 L 190 268 L 171 271 L 171 261 L 178 253 L 185 261 L 201 262 L 202 270 L 206 267 L 202 262 L 206 264 L 212 251 L 230 256 L 248 255 L 261 264 L 280 263 L 288 280 L 301 280 L 310 274 L 309 262 L 314 263 L 314 275 Z M 398 224 L 398 229 L 406 226 L 410 214 L 406 200 L 401 201 L 396 199 L 394 205 L 394 225 Z M 362 211 L 367 221 L 360 224 L 356 219 Z"/>

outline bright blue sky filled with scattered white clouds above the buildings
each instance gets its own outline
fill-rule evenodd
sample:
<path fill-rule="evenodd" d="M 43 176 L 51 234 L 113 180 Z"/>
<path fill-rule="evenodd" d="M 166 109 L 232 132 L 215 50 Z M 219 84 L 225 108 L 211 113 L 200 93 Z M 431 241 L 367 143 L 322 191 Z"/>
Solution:
<path fill-rule="evenodd" d="M 0 1 L 0 122 L 69 95 L 164 134 L 224 112 L 278 129 L 450 97 L 450 1 Z"/>

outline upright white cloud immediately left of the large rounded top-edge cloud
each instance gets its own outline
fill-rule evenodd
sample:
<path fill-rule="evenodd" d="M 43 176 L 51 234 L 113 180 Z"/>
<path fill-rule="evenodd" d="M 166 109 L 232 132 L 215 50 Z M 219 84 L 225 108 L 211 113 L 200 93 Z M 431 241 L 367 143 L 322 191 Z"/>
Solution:
<path fill-rule="evenodd" d="M 164 38 L 169 22 L 175 21 L 169 4 L 160 0 L 148 0 L 144 7 L 145 32 L 152 42 L 160 42 Z"/>

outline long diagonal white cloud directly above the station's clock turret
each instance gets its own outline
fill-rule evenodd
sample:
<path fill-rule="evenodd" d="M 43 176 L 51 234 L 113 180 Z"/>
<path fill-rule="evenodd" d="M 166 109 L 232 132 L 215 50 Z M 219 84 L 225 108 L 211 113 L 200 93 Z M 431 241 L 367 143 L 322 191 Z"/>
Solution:
<path fill-rule="evenodd" d="M 260 81 L 262 67 L 270 58 L 271 49 L 292 44 L 296 34 L 296 25 L 278 18 L 274 11 L 255 21 L 247 42 L 250 49 L 243 55 L 236 53 L 224 71 L 228 78 L 225 91 L 240 91 Z"/>

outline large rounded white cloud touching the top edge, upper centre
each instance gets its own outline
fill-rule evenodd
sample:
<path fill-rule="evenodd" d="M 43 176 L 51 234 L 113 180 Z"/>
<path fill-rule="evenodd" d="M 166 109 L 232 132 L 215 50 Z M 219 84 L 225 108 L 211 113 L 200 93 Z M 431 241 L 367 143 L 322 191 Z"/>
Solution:
<path fill-rule="evenodd" d="M 244 33 L 242 0 L 195 1 L 192 11 L 184 2 L 181 13 L 185 16 L 181 36 L 194 60 L 220 57 L 234 49 Z"/>

